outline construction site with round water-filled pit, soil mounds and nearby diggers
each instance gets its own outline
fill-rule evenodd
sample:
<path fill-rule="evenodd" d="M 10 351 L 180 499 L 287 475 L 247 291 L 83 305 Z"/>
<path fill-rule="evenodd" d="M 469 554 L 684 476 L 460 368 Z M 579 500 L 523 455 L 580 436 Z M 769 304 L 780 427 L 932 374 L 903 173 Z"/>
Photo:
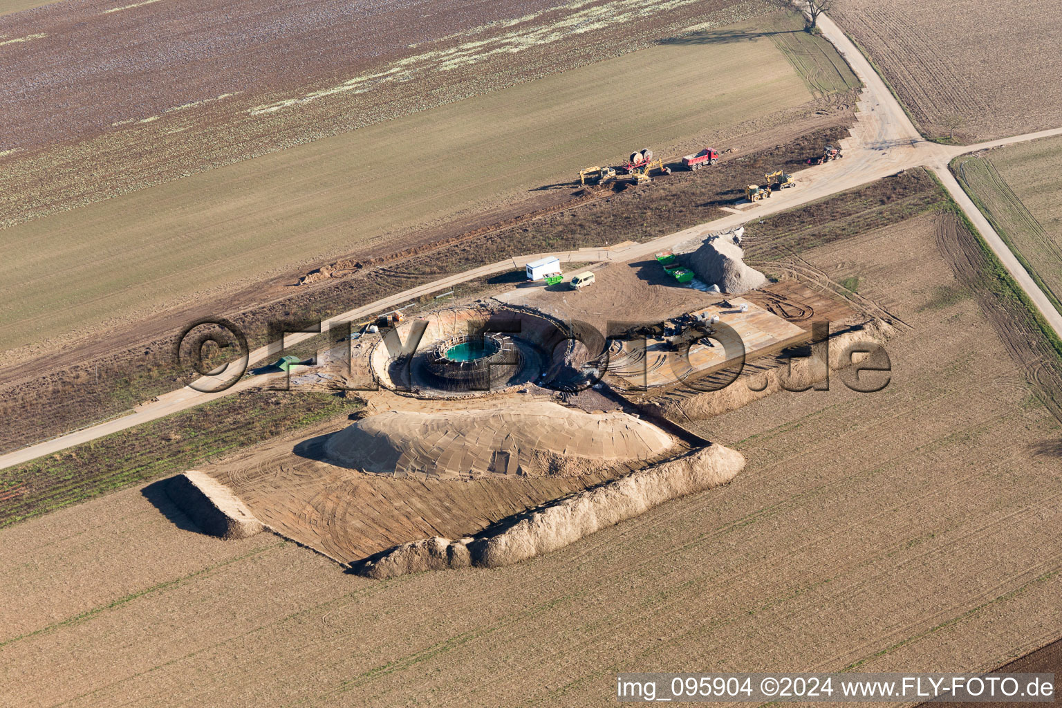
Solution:
<path fill-rule="evenodd" d="M 838 156 L 827 145 L 807 162 Z M 707 148 L 673 169 L 717 160 Z M 624 189 L 671 174 L 645 149 L 578 182 Z M 765 174 L 734 211 L 798 177 Z M 725 483 L 741 454 L 668 415 L 676 397 L 723 392 L 746 367 L 821 381 L 845 365 L 845 347 L 870 351 L 890 328 L 826 288 L 748 265 L 744 231 L 573 270 L 543 257 L 512 272 L 516 287 L 352 323 L 314 358 L 256 370 L 293 390 L 343 391 L 363 413 L 181 476 L 171 496 L 203 528 L 273 531 L 379 579 L 525 560 Z M 835 345 L 822 358 L 824 338 Z"/>

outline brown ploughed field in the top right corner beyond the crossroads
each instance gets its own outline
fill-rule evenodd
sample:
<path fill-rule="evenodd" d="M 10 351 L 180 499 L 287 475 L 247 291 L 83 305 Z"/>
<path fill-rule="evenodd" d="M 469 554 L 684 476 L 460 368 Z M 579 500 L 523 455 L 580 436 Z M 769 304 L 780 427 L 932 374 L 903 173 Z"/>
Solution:
<path fill-rule="evenodd" d="M 839 0 L 830 16 L 920 131 L 970 143 L 1062 125 L 1054 0 Z"/>

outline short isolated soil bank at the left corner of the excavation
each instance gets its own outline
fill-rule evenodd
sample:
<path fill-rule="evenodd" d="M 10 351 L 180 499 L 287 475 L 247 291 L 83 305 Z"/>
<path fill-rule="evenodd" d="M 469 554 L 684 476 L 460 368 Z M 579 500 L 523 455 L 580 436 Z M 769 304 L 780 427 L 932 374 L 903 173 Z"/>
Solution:
<path fill-rule="evenodd" d="M 204 472 L 190 469 L 177 474 L 166 485 L 166 494 L 210 536 L 246 538 L 264 528 L 232 489 Z"/>

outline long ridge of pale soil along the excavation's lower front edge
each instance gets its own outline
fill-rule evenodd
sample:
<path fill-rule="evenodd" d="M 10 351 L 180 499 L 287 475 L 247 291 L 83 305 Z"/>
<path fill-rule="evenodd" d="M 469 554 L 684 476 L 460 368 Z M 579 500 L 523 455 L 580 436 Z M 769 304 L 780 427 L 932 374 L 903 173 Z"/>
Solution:
<path fill-rule="evenodd" d="M 740 452 L 712 445 L 513 517 L 497 533 L 404 543 L 352 570 L 382 580 L 425 570 L 508 566 L 564 548 L 671 499 L 725 484 L 743 467 Z"/>

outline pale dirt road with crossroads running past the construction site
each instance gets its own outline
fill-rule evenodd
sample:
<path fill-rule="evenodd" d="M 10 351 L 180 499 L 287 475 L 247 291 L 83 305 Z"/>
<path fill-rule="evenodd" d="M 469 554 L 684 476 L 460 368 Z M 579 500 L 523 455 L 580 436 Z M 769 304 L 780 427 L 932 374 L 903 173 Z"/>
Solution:
<path fill-rule="evenodd" d="M 823 198 L 830 194 L 880 179 L 901 170 L 925 166 L 937 174 L 948 193 L 977 227 L 1011 276 L 1029 295 L 1055 331 L 1062 336 L 1062 314 L 1051 306 L 1047 296 L 1037 287 L 1032 277 L 1017 261 L 1003 239 L 999 238 L 999 235 L 992 228 L 992 225 L 989 224 L 983 214 L 971 202 L 970 197 L 966 196 L 947 168 L 948 162 L 958 155 L 1042 137 L 1062 135 L 1062 127 L 992 140 L 974 145 L 942 145 L 924 140 L 914 128 L 914 125 L 911 124 L 910 119 L 907 118 L 903 107 L 886 87 L 885 82 L 881 81 L 880 76 L 871 67 L 870 62 L 867 61 L 858 49 L 856 49 L 855 45 L 845 36 L 844 32 L 825 16 L 820 16 L 819 24 L 826 38 L 837 47 L 838 51 L 852 66 L 856 75 L 864 84 L 864 89 L 859 100 L 859 113 L 857 114 L 856 124 L 852 128 L 852 135 L 841 141 L 844 154 L 843 159 L 798 172 L 795 174 L 799 183 L 796 189 L 777 192 L 769 202 L 759 202 L 730 217 L 670 234 L 652 241 L 647 241 L 646 243 L 636 243 L 622 248 L 582 249 L 580 252 L 564 252 L 553 255 L 565 261 L 631 260 L 634 258 L 644 258 L 664 248 L 703 238 L 713 231 L 733 228 L 751 219 L 759 219 L 770 213 Z M 543 255 L 531 254 L 520 258 L 499 261 L 466 273 L 435 280 L 326 320 L 322 323 L 322 330 L 331 324 L 352 322 L 374 312 L 395 308 L 421 295 L 442 292 L 469 279 L 501 273 L 510 269 L 518 269 Z M 293 346 L 306 341 L 310 336 L 313 335 L 292 334 L 286 338 L 285 344 Z M 268 353 L 266 347 L 256 349 L 250 355 L 250 364 L 254 365 L 264 361 Z M 127 416 L 0 455 L 0 469 L 19 465 L 74 445 L 87 443 L 171 413 L 187 410 L 193 405 L 205 403 L 228 393 L 242 391 L 259 383 L 254 379 L 245 379 L 220 394 L 203 394 L 188 387 L 181 388 L 160 396 L 155 401 L 138 407 L 134 413 Z"/>

